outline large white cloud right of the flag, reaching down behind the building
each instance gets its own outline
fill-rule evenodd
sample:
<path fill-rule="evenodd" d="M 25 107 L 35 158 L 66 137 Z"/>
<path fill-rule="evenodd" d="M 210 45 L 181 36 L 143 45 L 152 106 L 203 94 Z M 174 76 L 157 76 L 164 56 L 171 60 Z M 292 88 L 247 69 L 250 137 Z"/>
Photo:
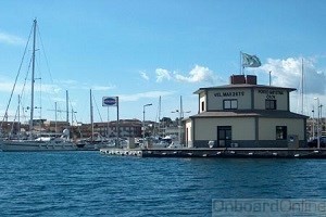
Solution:
<path fill-rule="evenodd" d="M 326 102 L 326 73 L 325 69 L 318 68 L 317 64 L 318 59 L 303 59 L 303 98 L 301 95 L 302 58 L 267 59 L 266 64 L 251 69 L 263 71 L 266 74 L 272 72 L 272 86 L 296 88 L 298 91 L 290 94 L 290 110 L 312 116 L 313 107 L 315 111 L 317 110 L 317 102 L 314 98 L 318 98 L 321 104 Z"/>

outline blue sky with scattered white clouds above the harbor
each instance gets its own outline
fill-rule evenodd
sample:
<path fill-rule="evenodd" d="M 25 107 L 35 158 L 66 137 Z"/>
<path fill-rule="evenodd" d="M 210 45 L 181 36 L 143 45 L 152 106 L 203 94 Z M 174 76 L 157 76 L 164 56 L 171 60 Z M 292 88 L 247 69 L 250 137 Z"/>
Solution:
<path fill-rule="evenodd" d="M 240 52 L 262 63 L 244 74 L 268 85 L 272 72 L 273 86 L 298 89 L 291 111 L 316 117 L 317 103 L 326 104 L 325 9 L 324 0 L 0 0 L 0 116 L 18 72 L 9 119 L 24 82 L 30 90 L 32 48 L 20 65 L 36 18 L 35 118 L 53 120 L 57 104 L 57 119 L 65 120 L 67 91 L 73 120 L 89 123 L 90 89 L 95 122 L 117 118 L 103 97 L 118 97 L 121 119 L 175 119 L 180 98 L 185 117 L 195 115 L 193 92 L 228 85 L 241 73 Z"/>

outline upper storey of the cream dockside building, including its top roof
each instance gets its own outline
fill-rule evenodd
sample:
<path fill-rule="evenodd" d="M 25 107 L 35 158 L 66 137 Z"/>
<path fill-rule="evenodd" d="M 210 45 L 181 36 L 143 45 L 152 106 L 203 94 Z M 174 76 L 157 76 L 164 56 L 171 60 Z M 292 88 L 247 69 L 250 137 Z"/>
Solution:
<path fill-rule="evenodd" d="M 293 88 L 256 84 L 254 75 L 233 75 L 226 86 L 200 88 L 199 113 L 218 111 L 290 111 L 290 92 Z"/>

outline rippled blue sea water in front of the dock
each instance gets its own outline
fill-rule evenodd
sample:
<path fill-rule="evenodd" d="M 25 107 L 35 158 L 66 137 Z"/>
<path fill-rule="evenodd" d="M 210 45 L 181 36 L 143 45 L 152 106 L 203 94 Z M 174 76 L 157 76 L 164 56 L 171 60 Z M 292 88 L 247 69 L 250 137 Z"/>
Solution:
<path fill-rule="evenodd" d="M 324 159 L 0 152 L 0 216 L 224 216 L 216 200 L 325 197 Z"/>

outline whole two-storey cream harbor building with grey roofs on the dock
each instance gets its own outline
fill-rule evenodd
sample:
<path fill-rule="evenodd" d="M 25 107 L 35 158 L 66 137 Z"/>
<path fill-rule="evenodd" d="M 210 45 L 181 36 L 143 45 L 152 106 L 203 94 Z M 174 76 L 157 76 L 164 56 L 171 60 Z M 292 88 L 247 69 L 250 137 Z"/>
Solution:
<path fill-rule="evenodd" d="M 229 85 L 200 88 L 199 112 L 184 120 L 188 148 L 303 148 L 308 116 L 290 112 L 293 88 L 233 75 Z"/>

